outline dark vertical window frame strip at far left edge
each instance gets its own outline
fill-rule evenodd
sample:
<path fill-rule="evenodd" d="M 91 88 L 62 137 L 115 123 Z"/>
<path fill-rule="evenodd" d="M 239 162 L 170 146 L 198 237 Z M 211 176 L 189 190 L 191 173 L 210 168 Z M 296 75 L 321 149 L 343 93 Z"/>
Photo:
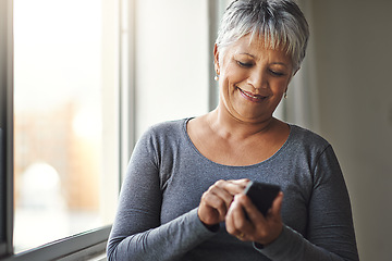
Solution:
<path fill-rule="evenodd" d="M 13 15 L 11 0 L 0 2 L 0 257 L 2 257 L 12 251 L 13 233 Z"/>

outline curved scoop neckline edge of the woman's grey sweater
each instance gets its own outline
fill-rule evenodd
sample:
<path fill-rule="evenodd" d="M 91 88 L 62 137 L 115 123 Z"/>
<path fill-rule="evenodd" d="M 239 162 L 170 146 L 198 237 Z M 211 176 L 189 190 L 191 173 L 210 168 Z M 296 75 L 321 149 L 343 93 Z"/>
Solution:
<path fill-rule="evenodd" d="M 183 124 L 182 124 L 182 130 L 183 130 L 183 134 L 185 136 L 185 139 L 186 141 L 191 145 L 191 147 L 193 148 L 193 150 L 205 161 L 208 161 L 209 163 L 212 163 L 215 165 L 218 165 L 218 166 L 223 166 L 223 167 L 234 167 L 234 169 L 245 169 L 245 167 L 255 167 L 255 166 L 259 166 L 259 165 L 262 165 L 262 164 L 267 164 L 268 162 L 274 160 L 278 156 L 280 156 L 284 150 L 285 148 L 289 146 L 289 144 L 291 142 L 292 140 L 292 136 L 294 135 L 294 125 L 292 124 L 289 124 L 289 127 L 290 127 L 290 133 L 289 133 L 289 137 L 286 138 L 286 140 L 284 141 L 284 144 L 279 148 L 279 150 L 277 150 L 277 152 L 274 152 L 270 158 L 264 160 L 264 161 L 260 161 L 258 163 L 255 163 L 255 164 L 250 164 L 250 165 L 226 165 L 226 164 L 221 164 L 221 163 L 218 163 L 218 162 L 215 162 L 210 159 L 208 159 L 207 157 L 205 157 L 197 148 L 196 146 L 194 145 L 194 142 L 192 141 L 188 133 L 187 133 L 187 129 L 186 129 L 186 126 L 187 126 L 187 123 L 194 117 L 186 117 L 184 119 L 183 121 Z"/>

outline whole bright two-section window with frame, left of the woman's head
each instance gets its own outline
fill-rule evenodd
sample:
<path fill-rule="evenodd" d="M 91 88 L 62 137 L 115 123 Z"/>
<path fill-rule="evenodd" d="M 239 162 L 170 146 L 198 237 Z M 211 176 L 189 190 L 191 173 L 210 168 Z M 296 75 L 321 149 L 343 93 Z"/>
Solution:
<path fill-rule="evenodd" d="M 209 21 L 221 5 L 0 2 L 0 257 L 105 250 L 135 140 L 217 104 Z"/>

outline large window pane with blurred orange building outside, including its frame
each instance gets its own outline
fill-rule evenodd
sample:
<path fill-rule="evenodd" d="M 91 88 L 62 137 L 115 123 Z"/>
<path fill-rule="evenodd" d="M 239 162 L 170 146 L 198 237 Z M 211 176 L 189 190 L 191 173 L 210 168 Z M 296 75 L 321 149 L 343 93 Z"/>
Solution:
<path fill-rule="evenodd" d="M 0 257 L 102 252 L 120 183 L 119 2 L 0 10 Z"/>

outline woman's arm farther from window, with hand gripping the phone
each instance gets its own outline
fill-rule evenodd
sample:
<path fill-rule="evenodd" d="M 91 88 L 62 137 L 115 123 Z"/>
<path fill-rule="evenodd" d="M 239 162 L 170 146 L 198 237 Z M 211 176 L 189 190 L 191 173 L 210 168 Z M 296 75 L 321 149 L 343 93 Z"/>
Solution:
<path fill-rule="evenodd" d="M 236 197 L 229 213 L 242 215 L 234 210 L 234 207 L 238 206 L 238 210 L 246 209 L 252 223 L 234 222 L 233 219 L 232 226 L 235 226 L 235 223 L 240 225 L 228 231 L 231 229 L 234 235 L 243 232 L 246 240 L 259 241 L 260 244 L 255 243 L 255 248 L 274 261 L 358 260 L 350 198 L 331 147 L 320 156 L 314 171 L 314 191 L 308 204 L 306 238 L 283 225 L 280 235 L 271 240 L 270 235 L 279 229 L 279 200 L 281 199 L 275 199 L 271 211 L 264 217 L 247 197 Z M 277 228 L 273 228 L 273 225 Z M 255 229 L 252 231 L 252 227 Z M 261 244 L 267 246 L 262 248 Z"/>

